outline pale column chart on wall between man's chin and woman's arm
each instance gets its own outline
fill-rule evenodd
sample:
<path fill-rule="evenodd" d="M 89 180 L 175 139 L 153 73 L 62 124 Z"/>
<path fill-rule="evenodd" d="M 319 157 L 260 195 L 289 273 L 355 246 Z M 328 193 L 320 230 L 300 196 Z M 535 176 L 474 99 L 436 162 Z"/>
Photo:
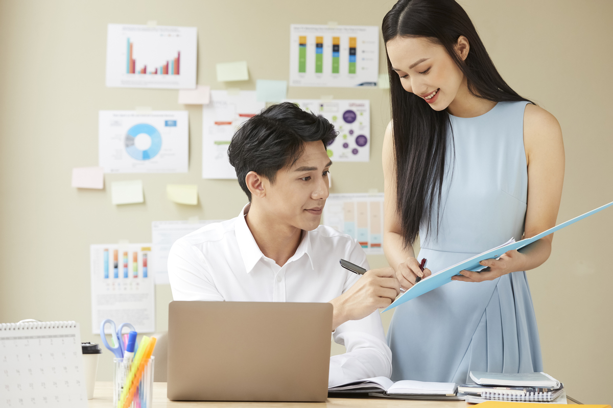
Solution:
<path fill-rule="evenodd" d="M 359 242 L 367 254 L 383 254 L 383 193 L 330 194 L 324 225 Z"/>

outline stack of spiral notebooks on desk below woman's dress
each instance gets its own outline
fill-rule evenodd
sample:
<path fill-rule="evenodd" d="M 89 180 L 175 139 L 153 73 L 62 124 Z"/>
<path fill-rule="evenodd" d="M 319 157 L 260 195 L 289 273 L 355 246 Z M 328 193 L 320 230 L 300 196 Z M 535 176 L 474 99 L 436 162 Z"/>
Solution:
<path fill-rule="evenodd" d="M 557 402 L 566 404 L 564 385 L 545 373 L 498 374 L 471 371 L 476 384 L 458 387 L 466 402 L 485 401 Z"/>

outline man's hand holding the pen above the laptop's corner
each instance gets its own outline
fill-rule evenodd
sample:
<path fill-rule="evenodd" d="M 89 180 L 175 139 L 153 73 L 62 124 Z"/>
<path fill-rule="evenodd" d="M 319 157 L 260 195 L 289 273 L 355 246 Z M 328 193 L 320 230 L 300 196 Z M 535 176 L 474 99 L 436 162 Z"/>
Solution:
<path fill-rule="evenodd" d="M 334 306 L 332 330 L 349 320 L 360 320 L 379 308 L 386 308 L 400 293 L 392 268 L 371 269 L 349 288 L 330 300 Z"/>

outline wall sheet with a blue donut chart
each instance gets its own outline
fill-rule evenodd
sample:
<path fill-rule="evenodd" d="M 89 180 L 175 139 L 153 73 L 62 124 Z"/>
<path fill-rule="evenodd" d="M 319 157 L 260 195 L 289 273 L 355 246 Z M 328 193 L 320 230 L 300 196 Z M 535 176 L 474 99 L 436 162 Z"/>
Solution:
<path fill-rule="evenodd" d="M 188 172 L 186 111 L 100 111 L 98 160 L 107 173 Z"/>

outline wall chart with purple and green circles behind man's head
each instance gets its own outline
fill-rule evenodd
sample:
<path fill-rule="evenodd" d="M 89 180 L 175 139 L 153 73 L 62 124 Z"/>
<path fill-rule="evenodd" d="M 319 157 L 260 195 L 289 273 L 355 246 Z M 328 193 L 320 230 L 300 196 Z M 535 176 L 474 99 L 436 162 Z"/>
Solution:
<path fill-rule="evenodd" d="M 328 119 L 338 132 L 328 146 L 332 161 L 370 161 L 370 101 L 292 99 L 305 111 Z"/>

